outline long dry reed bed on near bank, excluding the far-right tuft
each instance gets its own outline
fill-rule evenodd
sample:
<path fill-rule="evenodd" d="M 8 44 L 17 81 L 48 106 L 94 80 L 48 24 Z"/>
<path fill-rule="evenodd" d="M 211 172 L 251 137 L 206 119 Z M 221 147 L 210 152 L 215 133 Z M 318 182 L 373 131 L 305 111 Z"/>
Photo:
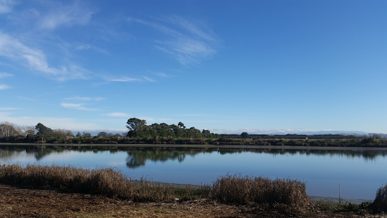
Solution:
<path fill-rule="evenodd" d="M 90 170 L 74 166 L 3 164 L 0 165 L 0 182 L 99 194 L 134 202 L 175 202 L 177 199 L 176 189 L 170 185 L 143 178 L 135 184 L 111 168 Z M 212 186 L 202 184 L 200 189 L 192 189 L 187 185 L 181 200 L 197 197 L 224 204 L 284 207 L 297 212 L 306 212 L 314 206 L 307 196 L 305 183 L 291 179 L 272 181 L 264 177 L 227 175 L 218 178 Z"/>

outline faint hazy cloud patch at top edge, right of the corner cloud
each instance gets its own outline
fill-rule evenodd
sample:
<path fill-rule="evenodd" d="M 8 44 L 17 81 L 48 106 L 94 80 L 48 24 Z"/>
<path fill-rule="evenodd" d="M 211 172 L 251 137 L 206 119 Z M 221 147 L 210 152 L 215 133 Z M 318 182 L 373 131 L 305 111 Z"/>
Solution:
<path fill-rule="evenodd" d="M 86 25 L 94 13 L 95 11 L 83 4 L 82 1 L 75 1 L 67 5 L 55 3 L 51 10 L 42 17 L 41 27 L 55 29 L 60 26 Z"/>

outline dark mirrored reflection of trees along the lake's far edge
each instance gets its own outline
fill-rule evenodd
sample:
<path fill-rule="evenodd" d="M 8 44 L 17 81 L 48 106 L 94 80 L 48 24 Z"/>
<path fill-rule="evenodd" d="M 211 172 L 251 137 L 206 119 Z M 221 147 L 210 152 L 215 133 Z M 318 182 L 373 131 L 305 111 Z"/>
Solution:
<path fill-rule="evenodd" d="M 22 156 L 33 156 L 36 161 L 41 161 L 51 153 L 61 154 L 64 152 L 127 152 L 126 165 L 128 168 L 144 166 L 147 161 L 165 162 L 177 160 L 184 161 L 187 156 L 195 156 L 200 153 L 217 154 L 240 154 L 244 152 L 266 153 L 273 156 L 283 155 L 306 155 L 306 156 L 329 156 L 346 157 L 348 159 L 363 159 L 365 162 L 373 161 L 377 157 L 386 157 L 386 151 L 373 150 L 327 150 L 327 149 L 235 149 L 235 148 L 190 148 L 190 147 L 101 147 L 101 146 L 62 146 L 62 145 L 0 145 L 0 161 L 7 162 L 22 158 Z"/>

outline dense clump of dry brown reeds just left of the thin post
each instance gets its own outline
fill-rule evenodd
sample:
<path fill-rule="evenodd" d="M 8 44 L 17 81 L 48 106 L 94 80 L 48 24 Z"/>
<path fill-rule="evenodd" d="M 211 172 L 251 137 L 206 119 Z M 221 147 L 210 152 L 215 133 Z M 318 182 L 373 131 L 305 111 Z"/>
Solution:
<path fill-rule="evenodd" d="M 305 183 L 291 179 L 276 179 L 250 176 L 224 176 L 212 187 L 211 196 L 227 204 L 286 205 L 298 212 L 313 207 L 306 192 Z"/>

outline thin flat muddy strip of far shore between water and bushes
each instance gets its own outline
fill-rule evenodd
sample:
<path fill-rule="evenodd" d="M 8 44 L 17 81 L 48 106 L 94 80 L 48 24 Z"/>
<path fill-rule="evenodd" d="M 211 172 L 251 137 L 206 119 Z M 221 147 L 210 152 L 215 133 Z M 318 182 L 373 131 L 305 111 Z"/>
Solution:
<path fill-rule="evenodd" d="M 303 149 L 303 150 L 350 150 L 387 151 L 387 147 L 313 147 L 289 145 L 177 145 L 177 144 L 49 144 L 49 143 L 0 143 L 0 145 L 33 146 L 87 146 L 87 147 L 190 147 L 190 148 L 235 148 L 235 149 Z"/>

